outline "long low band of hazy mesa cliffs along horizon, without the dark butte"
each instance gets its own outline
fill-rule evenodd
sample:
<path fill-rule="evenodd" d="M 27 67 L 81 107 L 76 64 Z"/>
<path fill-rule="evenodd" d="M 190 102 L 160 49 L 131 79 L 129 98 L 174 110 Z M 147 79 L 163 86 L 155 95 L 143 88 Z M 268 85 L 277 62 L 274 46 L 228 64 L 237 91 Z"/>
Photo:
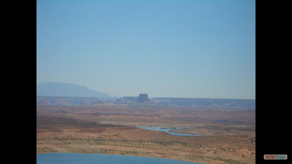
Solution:
<path fill-rule="evenodd" d="M 36 96 L 37 105 L 107 105 L 136 107 L 179 107 L 179 108 L 233 108 L 253 109 L 255 100 L 213 98 L 151 98 L 139 102 L 138 97 L 52 97 Z"/>

